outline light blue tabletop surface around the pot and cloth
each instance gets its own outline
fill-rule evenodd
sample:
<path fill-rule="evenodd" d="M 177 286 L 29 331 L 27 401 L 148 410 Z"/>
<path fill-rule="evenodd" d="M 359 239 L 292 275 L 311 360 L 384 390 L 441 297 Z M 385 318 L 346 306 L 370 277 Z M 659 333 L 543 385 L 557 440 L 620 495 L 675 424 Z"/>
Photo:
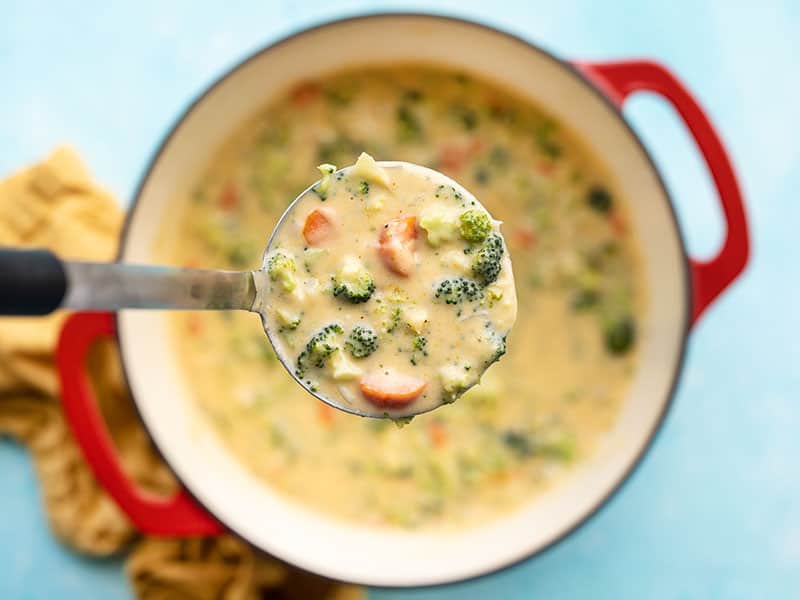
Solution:
<path fill-rule="evenodd" d="M 265 42 L 322 20 L 430 3 L 4 3 L 0 175 L 75 145 L 128 199 L 187 101 Z M 594 519 L 544 555 L 479 581 L 401 598 L 789 598 L 800 594 L 800 4 L 626 0 L 435 6 L 564 57 L 647 56 L 672 67 L 718 125 L 753 236 L 748 270 L 695 328 L 652 451 Z M 298 8 L 298 6 L 300 6 Z M 660 100 L 626 116 L 653 152 L 692 252 L 723 234 L 685 129 Z M 122 561 L 51 536 L 24 449 L 0 441 L 0 597 L 128 598 Z"/>

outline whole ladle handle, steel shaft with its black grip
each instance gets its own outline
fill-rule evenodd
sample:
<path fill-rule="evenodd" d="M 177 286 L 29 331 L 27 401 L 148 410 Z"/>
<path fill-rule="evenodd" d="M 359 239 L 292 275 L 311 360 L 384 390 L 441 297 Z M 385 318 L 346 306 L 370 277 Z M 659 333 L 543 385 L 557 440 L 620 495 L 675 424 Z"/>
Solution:
<path fill-rule="evenodd" d="M 251 310 L 251 271 L 63 261 L 48 250 L 0 248 L 0 315 L 57 308 Z"/>

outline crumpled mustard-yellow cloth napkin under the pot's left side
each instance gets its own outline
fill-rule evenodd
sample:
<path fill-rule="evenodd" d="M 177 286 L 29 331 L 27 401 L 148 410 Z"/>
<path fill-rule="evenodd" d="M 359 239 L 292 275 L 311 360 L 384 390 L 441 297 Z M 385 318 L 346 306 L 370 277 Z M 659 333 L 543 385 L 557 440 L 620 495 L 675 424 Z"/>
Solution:
<path fill-rule="evenodd" d="M 0 245 L 112 260 L 121 224 L 119 205 L 69 148 L 0 182 Z M 0 437 L 30 450 L 50 526 L 62 542 L 95 556 L 130 550 L 126 570 L 139 598 L 363 597 L 360 588 L 288 568 L 230 536 L 141 539 L 95 481 L 64 421 L 53 365 L 64 318 L 0 318 Z M 176 483 L 139 423 L 114 344 L 98 343 L 89 371 L 126 471 L 138 485 L 170 493 Z"/>

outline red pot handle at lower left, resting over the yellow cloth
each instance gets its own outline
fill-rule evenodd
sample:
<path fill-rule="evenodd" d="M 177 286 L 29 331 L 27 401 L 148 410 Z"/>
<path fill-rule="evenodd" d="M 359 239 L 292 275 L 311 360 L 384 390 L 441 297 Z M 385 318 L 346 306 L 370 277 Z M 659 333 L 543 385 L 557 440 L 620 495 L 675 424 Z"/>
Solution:
<path fill-rule="evenodd" d="M 67 421 L 100 484 L 143 533 L 158 536 L 215 535 L 223 527 L 181 488 L 172 497 L 153 495 L 136 487 L 117 458 L 91 383 L 86 355 L 100 338 L 115 337 L 111 313 L 77 313 L 61 330 L 56 364 Z"/>

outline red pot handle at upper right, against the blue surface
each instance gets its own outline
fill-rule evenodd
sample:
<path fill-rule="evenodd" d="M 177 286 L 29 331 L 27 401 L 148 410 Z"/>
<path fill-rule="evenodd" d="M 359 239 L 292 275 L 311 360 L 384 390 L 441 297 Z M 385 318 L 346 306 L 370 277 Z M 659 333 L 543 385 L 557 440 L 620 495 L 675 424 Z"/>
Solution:
<path fill-rule="evenodd" d="M 726 234 L 711 260 L 690 259 L 692 324 L 744 270 L 750 252 L 742 192 L 730 158 L 708 116 L 688 89 L 665 67 L 647 60 L 573 63 L 617 106 L 634 92 L 655 92 L 667 99 L 689 127 L 706 161 L 725 213 Z"/>

